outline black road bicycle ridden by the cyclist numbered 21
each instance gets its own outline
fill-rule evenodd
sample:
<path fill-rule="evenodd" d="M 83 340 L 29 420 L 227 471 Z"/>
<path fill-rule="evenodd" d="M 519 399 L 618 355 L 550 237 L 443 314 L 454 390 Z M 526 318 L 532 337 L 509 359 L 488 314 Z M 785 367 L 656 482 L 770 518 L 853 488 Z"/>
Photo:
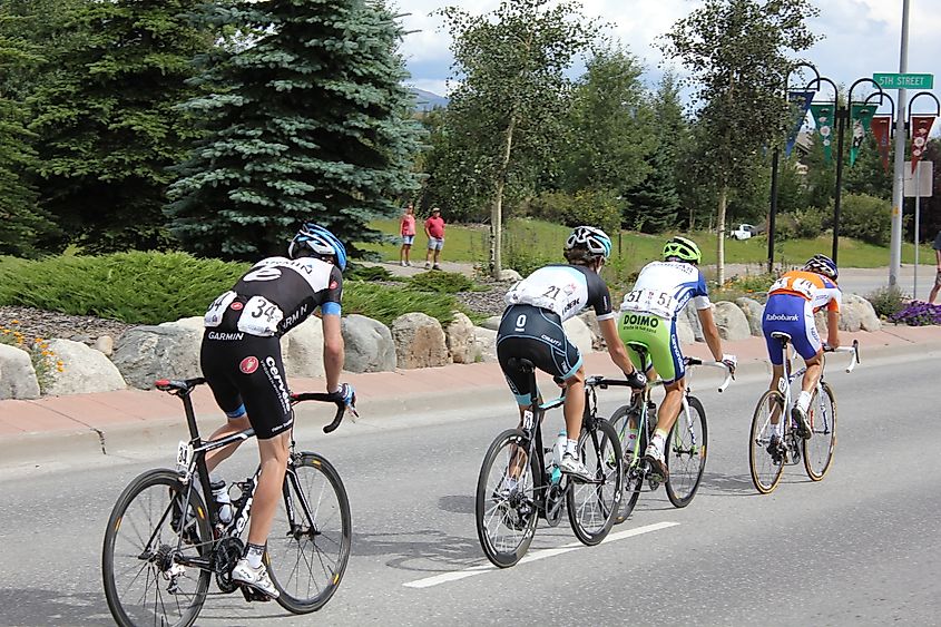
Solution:
<path fill-rule="evenodd" d="M 517 365 L 529 376 L 532 410 L 523 413 L 520 428 L 503 431 L 490 444 L 480 468 L 474 508 L 480 546 L 501 568 L 526 555 L 538 519 L 556 527 L 563 508 L 579 541 L 597 545 L 611 530 L 621 498 L 620 442 L 611 425 L 597 415 L 596 389 L 611 380 L 589 376 L 585 381 L 578 451 L 592 479 L 584 481 L 561 473 L 552 461 L 552 448 L 542 443 L 546 412 L 565 403 L 565 392 L 543 403 L 532 362 L 510 360 L 511 368 Z"/>

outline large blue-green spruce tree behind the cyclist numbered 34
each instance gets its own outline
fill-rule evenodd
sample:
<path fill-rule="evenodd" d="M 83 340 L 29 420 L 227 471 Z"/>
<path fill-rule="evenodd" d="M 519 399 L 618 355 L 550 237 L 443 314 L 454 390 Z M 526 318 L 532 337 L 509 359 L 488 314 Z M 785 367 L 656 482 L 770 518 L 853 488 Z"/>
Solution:
<path fill-rule="evenodd" d="M 199 254 L 253 259 L 283 255 L 316 222 L 361 255 L 356 242 L 381 237 L 369 222 L 418 187 L 401 26 L 363 0 L 244 0 L 216 18 L 259 36 L 218 56 L 204 77 L 215 92 L 186 105 L 207 135 L 173 185 L 173 233 Z"/>

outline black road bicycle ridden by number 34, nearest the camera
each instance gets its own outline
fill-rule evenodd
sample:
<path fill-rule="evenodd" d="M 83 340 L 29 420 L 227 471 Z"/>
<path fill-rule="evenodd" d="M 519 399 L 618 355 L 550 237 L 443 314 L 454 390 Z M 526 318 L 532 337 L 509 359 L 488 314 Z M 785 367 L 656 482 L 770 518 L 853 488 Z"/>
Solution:
<path fill-rule="evenodd" d="M 234 484 L 237 496 L 232 498 L 228 522 L 219 519 L 206 469 L 206 453 L 245 441 L 255 431 L 203 441 L 190 394 L 205 381 L 156 382 L 157 389 L 183 400 L 190 439 L 179 442 L 176 469 L 141 473 L 111 510 L 101 570 L 108 608 L 118 625 L 192 625 L 213 576 L 220 594 L 241 589 L 246 600 L 268 600 L 232 579 L 245 548 L 242 536 L 261 466 L 253 477 Z M 335 394 L 291 394 L 292 408 L 303 401 L 336 404 L 325 433 L 340 425 L 347 409 Z M 340 474 L 326 459 L 295 451 L 293 432 L 282 493 L 263 559 L 280 592 L 277 602 L 291 613 L 307 614 L 330 600 L 343 577 L 352 538 L 350 501 Z"/>

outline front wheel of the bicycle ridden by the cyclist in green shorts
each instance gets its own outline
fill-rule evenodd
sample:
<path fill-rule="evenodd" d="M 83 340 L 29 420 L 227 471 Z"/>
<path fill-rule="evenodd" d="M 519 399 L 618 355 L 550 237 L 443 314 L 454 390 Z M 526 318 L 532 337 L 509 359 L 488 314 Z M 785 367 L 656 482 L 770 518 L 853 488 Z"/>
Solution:
<path fill-rule="evenodd" d="M 709 452 L 706 410 L 696 396 L 687 396 L 687 405 L 695 415 L 687 420 L 686 411 L 680 409 L 664 444 L 664 460 L 668 471 L 667 498 L 676 508 L 684 508 L 693 502 L 703 481 Z"/>

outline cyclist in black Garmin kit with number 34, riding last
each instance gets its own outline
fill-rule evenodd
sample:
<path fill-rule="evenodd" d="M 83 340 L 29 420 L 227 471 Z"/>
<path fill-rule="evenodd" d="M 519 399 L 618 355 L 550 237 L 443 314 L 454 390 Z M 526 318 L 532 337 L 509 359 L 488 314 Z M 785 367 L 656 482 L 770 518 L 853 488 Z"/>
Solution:
<path fill-rule="evenodd" d="M 200 354 L 203 375 L 228 417 L 212 439 L 252 427 L 262 459 L 248 545 L 232 578 L 272 598 L 278 592 L 262 564 L 262 556 L 281 497 L 293 425 L 280 337 L 320 307 L 326 391 L 347 405 L 353 403 L 353 386 L 340 384 L 344 356 L 340 327 L 341 273 L 345 267 L 343 244 L 327 229 L 305 224 L 291 241 L 287 257 L 268 257 L 255 264 L 206 312 Z M 235 443 L 209 452 L 208 469 L 213 470 L 237 447 Z"/>

